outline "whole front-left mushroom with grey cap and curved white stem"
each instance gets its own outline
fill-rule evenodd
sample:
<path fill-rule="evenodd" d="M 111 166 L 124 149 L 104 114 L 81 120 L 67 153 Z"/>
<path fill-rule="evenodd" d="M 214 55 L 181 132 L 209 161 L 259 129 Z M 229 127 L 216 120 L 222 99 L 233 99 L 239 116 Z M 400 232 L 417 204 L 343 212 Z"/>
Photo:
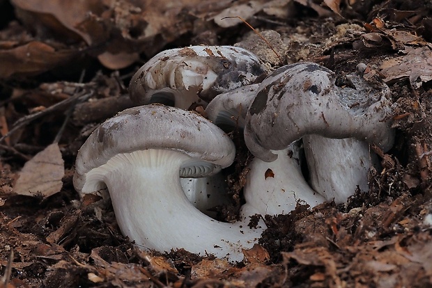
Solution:
<path fill-rule="evenodd" d="M 78 152 L 73 183 L 84 195 L 107 187 L 121 232 L 141 248 L 184 248 L 241 260 L 265 225 L 223 223 L 196 209 L 180 177 L 229 166 L 231 139 L 192 112 L 160 105 L 126 109 L 95 129 Z"/>

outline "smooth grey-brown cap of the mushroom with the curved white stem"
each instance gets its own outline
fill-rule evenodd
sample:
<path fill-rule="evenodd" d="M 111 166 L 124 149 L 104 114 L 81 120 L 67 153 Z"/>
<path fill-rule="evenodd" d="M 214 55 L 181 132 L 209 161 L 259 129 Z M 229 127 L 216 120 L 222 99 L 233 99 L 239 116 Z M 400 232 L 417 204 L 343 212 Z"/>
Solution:
<path fill-rule="evenodd" d="M 196 159 L 180 177 L 206 177 L 231 165 L 236 148 L 224 131 L 196 113 L 161 105 L 137 106 L 103 122 L 79 149 L 74 186 L 82 191 L 86 173 L 116 154 L 162 149 Z"/>

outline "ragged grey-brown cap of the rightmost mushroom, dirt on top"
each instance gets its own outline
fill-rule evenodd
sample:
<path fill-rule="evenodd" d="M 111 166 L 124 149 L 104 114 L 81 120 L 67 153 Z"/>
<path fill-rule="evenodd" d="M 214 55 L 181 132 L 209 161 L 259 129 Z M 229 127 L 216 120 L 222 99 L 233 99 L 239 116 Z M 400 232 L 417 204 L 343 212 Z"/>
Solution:
<path fill-rule="evenodd" d="M 246 116 L 245 142 L 263 161 L 274 161 L 270 150 L 283 150 L 307 134 L 376 143 L 387 151 L 394 131 L 389 88 L 372 87 L 358 75 L 350 86 L 335 85 L 335 74 L 316 63 L 297 63 L 275 70 L 261 83 Z"/>

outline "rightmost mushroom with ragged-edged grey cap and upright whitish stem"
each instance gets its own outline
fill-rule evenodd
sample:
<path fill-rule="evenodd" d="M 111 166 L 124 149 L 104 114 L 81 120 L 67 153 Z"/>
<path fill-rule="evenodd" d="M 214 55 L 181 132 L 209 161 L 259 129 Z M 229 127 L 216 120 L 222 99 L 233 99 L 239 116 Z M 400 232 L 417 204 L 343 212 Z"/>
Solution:
<path fill-rule="evenodd" d="M 386 120 L 390 105 L 385 84 L 371 86 L 357 74 L 347 75 L 341 87 L 335 80 L 333 72 L 315 63 L 275 70 L 261 83 L 249 108 L 245 142 L 256 157 L 274 161 L 273 150 L 303 137 L 312 188 L 327 200 L 342 202 L 355 186 L 367 186 L 373 157 L 361 141 L 387 151 L 394 131 Z"/>

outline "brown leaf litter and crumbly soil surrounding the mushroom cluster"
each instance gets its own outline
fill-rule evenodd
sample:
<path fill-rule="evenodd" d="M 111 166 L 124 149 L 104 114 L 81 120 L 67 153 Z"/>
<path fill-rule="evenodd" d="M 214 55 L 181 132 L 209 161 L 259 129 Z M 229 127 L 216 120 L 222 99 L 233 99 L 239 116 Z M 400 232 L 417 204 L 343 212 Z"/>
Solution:
<path fill-rule="evenodd" d="M 38 1 L 27 1 L 28 6 L 11 2 L 15 6 L 0 1 L 1 134 L 13 129 L 17 120 L 72 95 L 91 93 L 91 99 L 80 98 L 74 106 L 70 102 L 24 121 L 0 143 L 0 287 L 432 287 L 431 2 L 325 1 L 330 10 L 320 6 L 321 1 L 280 1 L 281 7 L 257 8 L 249 17 L 273 49 L 259 44 L 261 38 L 244 24 L 226 28 L 208 20 L 215 16 L 215 7 L 252 7 L 252 1 L 197 3 L 189 13 L 178 9 L 177 24 L 155 25 L 155 35 L 148 35 L 147 42 L 135 35 L 136 30 L 123 27 L 139 23 L 132 1 L 116 1 L 112 15 L 100 14 L 102 20 L 115 18 L 107 22 L 118 28 L 109 36 L 97 30 L 99 22 L 85 22 L 86 33 L 80 34 L 72 32 L 68 21 L 56 21 L 52 15 L 59 15 L 58 10 L 38 13 L 29 8 Z M 56 1 L 50 2 L 57 7 Z M 271 8 L 279 14 L 271 15 Z M 148 15 L 155 13 L 147 9 Z M 171 23 L 171 18 L 167 15 L 164 21 Z M 128 33 L 135 38 L 125 37 Z M 112 42 L 98 42 L 96 35 L 112 37 Z M 159 44 L 150 49 L 143 42 Z M 369 191 L 356 193 L 342 205 L 298 205 L 291 214 L 266 216 L 268 230 L 238 264 L 184 250 L 138 250 L 118 230 L 109 200 L 90 196 L 82 201 L 72 186 L 77 150 L 89 133 L 133 105 L 124 95 L 142 64 L 138 59 L 144 62 L 165 47 L 202 42 L 239 43 L 270 69 L 314 61 L 343 77 L 364 63 L 364 77 L 371 85 L 385 81 L 394 103 L 389 117 L 396 142 L 386 153 L 371 147 L 383 169 L 370 171 Z M 119 60 L 113 47 L 128 57 Z M 140 58 L 132 57 L 138 55 L 134 51 L 141 52 Z M 24 56 L 29 60 L 23 61 Z M 83 70 L 85 76 L 79 80 Z M 62 128 L 68 113 L 71 117 Z M 32 196 L 13 193 L 24 163 L 52 143 L 59 131 L 65 168 L 61 190 Z M 238 145 L 236 162 L 227 172 L 233 204 L 217 207 L 219 218 L 229 221 L 238 214 L 252 159 L 236 131 L 232 137 Z"/>

